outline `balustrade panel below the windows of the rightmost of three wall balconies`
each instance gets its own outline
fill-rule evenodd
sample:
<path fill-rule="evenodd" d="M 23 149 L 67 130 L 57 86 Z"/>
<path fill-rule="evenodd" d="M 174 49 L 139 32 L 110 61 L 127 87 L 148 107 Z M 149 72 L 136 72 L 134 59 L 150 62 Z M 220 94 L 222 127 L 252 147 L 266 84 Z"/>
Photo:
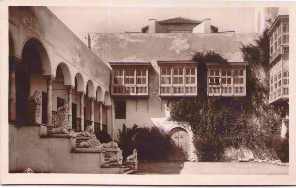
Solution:
<path fill-rule="evenodd" d="M 216 86 L 207 87 L 208 96 L 246 96 L 246 86 Z"/>

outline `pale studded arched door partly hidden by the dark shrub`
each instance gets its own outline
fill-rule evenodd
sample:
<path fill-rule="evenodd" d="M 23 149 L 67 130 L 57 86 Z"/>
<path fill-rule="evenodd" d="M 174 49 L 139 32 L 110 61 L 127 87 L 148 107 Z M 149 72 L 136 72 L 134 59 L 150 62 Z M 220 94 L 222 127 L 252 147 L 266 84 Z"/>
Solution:
<path fill-rule="evenodd" d="M 181 127 L 176 127 L 170 130 L 169 135 L 176 146 L 182 149 L 176 150 L 176 157 L 181 160 L 187 159 L 190 153 L 190 136 L 188 132 Z"/>

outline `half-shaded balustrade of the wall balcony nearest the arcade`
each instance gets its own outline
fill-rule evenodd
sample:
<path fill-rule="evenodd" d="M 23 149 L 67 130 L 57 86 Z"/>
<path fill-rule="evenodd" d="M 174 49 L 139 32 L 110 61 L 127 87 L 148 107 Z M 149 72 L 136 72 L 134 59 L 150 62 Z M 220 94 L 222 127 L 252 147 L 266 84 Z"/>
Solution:
<path fill-rule="evenodd" d="M 111 92 L 113 96 L 148 96 L 148 86 L 112 86 Z"/>

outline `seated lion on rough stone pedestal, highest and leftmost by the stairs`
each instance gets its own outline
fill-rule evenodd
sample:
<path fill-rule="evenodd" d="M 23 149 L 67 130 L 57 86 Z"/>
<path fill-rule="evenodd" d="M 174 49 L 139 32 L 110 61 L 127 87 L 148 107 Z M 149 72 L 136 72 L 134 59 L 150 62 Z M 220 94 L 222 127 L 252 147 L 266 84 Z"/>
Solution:
<path fill-rule="evenodd" d="M 28 121 L 29 123 L 40 124 L 40 97 L 41 90 L 35 90 L 33 96 L 30 97 L 28 105 Z"/>

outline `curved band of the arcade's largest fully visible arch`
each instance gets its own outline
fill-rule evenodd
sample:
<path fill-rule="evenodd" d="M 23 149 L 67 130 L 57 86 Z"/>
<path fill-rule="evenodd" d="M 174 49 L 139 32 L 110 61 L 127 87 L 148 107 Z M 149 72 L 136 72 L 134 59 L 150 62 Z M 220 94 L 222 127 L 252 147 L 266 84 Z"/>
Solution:
<path fill-rule="evenodd" d="M 35 45 L 35 47 L 40 55 L 42 69 L 43 69 L 42 70 L 43 75 L 52 75 L 52 71 L 51 71 L 52 66 L 51 66 L 51 62 L 48 57 L 48 52 L 45 48 L 44 43 L 39 38 L 37 38 L 35 36 L 29 36 L 28 38 L 26 38 L 26 40 L 24 41 L 24 44 L 22 46 L 21 57 L 23 55 L 24 47 L 28 43 L 32 43 L 33 45 Z"/>

